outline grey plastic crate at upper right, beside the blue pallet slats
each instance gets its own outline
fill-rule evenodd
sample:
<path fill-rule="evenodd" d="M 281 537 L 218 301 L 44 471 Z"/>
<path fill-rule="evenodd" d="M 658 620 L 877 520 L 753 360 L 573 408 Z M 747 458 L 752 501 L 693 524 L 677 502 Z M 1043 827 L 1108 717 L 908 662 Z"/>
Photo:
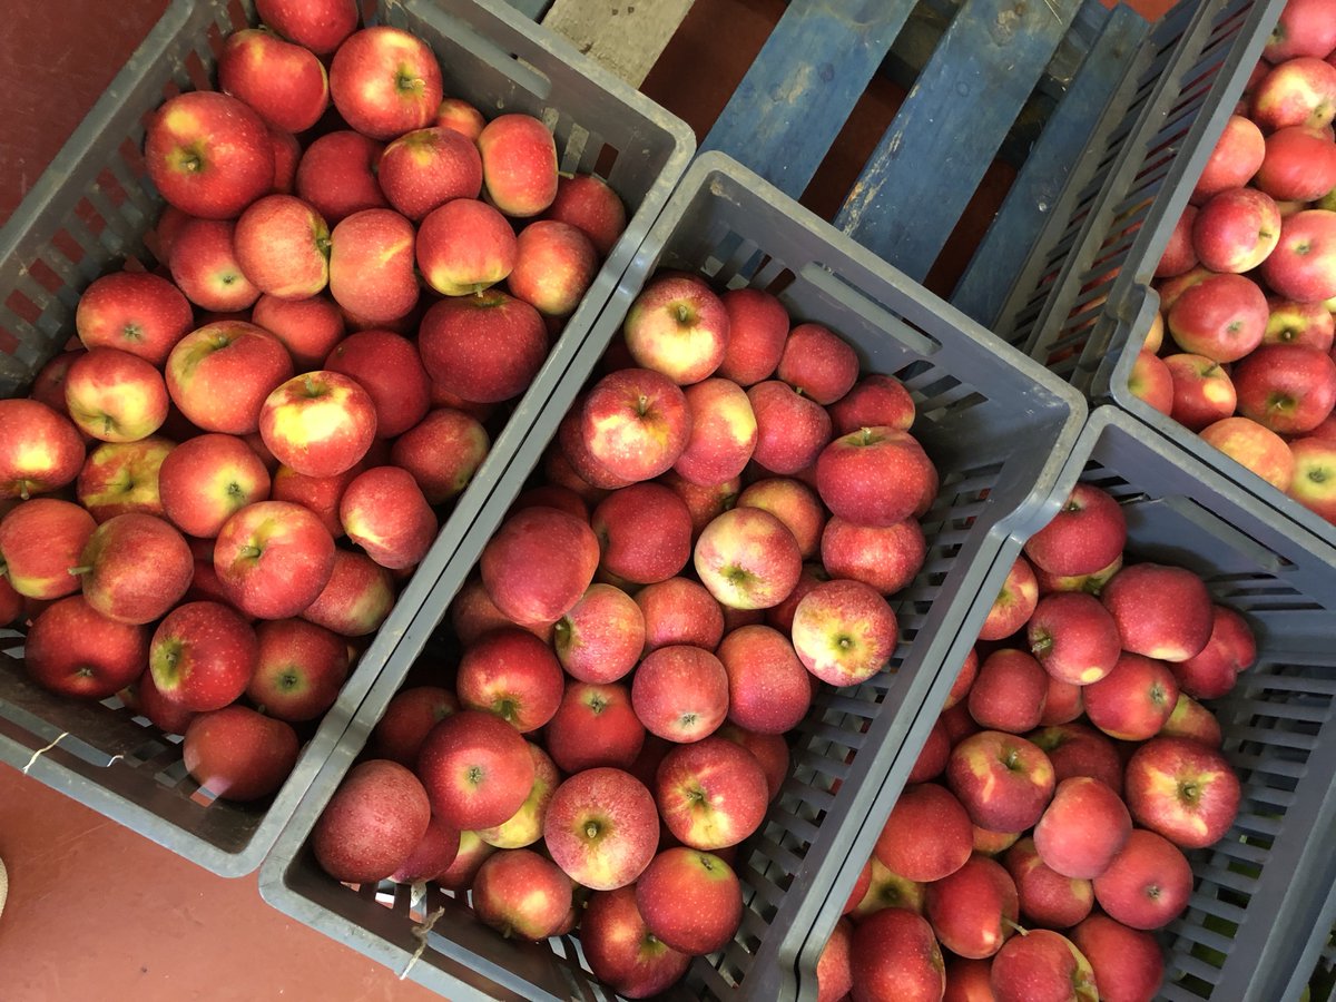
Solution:
<path fill-rule="evenodd" d="M 1029 262 L 995 329 L 1090 401 L 1134 414 L 1336 545 L 1336 526 L 1128 389 L 1160 307 L 1156 265 L 1283 8 L 1283 0 L 1182 3 L 1156 27 L 1165 53 L 1142 72 L 1145 99 L 1077 167 L 1081 184 L 1055 207 L 1046 250 Z"/>

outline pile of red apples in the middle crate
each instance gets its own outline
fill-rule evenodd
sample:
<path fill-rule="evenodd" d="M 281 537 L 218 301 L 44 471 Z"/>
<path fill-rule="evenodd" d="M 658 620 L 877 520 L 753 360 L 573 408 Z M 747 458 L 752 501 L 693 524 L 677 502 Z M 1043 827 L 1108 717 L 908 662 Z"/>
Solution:
<path fill-rule="evenodd" d="M 891 659 L 938 476 L 907 390 L 766 291 L 657 273 L 623 334 L 311 846 L 506 935 L 578 927 L 640 998 L 736 934 L 733 847 L 819 687 Z"/>

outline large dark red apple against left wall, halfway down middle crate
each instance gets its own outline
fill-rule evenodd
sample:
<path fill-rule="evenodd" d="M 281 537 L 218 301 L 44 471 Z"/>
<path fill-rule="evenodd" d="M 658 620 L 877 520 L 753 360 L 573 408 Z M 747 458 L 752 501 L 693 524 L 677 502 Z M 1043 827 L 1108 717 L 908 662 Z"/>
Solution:
<path fill-rule="evenodd" d="M 599 538 L 589 525 L 554 508 L 509 516 L 480 561 L 488 596 L 521 625 L 554 623 L 593 581 Z"/>

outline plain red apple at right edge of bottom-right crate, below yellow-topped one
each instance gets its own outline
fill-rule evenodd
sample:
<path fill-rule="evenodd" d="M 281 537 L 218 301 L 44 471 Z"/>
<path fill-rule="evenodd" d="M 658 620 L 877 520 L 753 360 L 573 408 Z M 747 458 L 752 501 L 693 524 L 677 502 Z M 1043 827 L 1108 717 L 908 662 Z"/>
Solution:
<path fill-rule="evenodd" d="M 1188 907 L 1192 866 L 1162 835 L 1133 828 L 1122 852 L 1094 879 L 1094 898 L 1109 918 L 1132 929 L 1161 929 Z"/>

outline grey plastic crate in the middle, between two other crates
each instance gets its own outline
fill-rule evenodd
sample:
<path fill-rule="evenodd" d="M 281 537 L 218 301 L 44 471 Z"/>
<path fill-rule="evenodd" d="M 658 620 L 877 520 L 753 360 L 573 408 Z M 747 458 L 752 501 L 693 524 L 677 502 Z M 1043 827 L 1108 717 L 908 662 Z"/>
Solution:
<path fill-rule="evenodd" d="M 501 474 L 492 506 L 424 603 L 409 628 L 437 629 L 505 505 L 536 469 L 557 422 L 595 370 L 655 266 L 687 269 L 716 286 L 776 291 L 795 322 L 819 321 L 858 350 L 864 371 L 891 373 L 912 391 L 914 426 L 942 474 L 923 520 L 927 562 L 894 605 L 900 644 L 890 669 L 852 689 L 826 688 L 794 735 L 794 771 L 762 830 L 737 856 L 744 915 L 736 939 L 697 959 L 675 998 L 815 998 L 818 949 L 839 904 L 831 886 L 852 879 L 852 863 L 876 832 L 864 818 L 891 775 L 916 758 L 939 707 L 1023 538 L 1057 510 L 1053 493 L 1085 417 L 1081 398 L 1042 367 L 878 261 L 751 171 L 720 154 L 697 158 L 637 254 L 593 334 L 556 387 L 514 462 Z M 1041 498 L 1042 502 L 1041 502 Z M 442 629 L 442 633 L 446 631 Z M 442 635 L 437 640 L 448 643 Z M 261 892 L 289 915 L 366 955 L 407 971 L 452 999 L 607 999 L 573 938 L 532 945 L 481 926 L 464 900 L 432 888 L 414 904 L 407 887 L 350 890 L 326 876 L 306 839 L 375 721 L 403 683 L 406 665 L 386 671 L 321 770 L 293 823 L 261 870 Z M 894 794 L 891 794 L 894 798 Z M 847 896 L 846 888 L 844 895 Z M 414 929 L 445 908 L 413 959 Z"/>

